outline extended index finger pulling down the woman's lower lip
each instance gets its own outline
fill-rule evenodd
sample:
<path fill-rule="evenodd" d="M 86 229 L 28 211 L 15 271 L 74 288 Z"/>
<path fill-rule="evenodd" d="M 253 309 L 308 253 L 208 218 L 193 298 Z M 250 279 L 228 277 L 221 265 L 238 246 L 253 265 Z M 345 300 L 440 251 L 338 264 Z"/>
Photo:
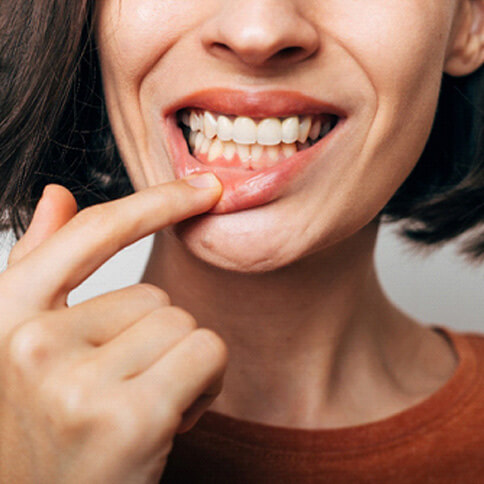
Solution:
<path fill-rule="evenodd" d="M 122 248 L 215 205 L 221 184 L 206 175 L 213 185 L 177 180 L 82 210 L 12 267 L 12 282 L 21 283 L 28 272 L 29 304 L 48 309 Z"/>

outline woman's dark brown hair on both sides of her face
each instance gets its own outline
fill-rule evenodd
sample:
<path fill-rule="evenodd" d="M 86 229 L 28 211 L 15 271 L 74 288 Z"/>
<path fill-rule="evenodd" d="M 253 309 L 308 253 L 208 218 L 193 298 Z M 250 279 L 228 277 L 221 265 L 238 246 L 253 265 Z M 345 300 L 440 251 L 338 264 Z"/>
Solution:
<path fill-rule="evenodd" d="M 116 150 L 92 36 L 94 0 L 0 3 L 0 208 L 19 236 L 44 186 L 69 188 L 79 207 L 133 189 Z M 484 68 L 443 76 L 425 150 L 380 213 L 421 246 L 484 222 Z M 462 246 L 484 256 L 484 233 Z"/>

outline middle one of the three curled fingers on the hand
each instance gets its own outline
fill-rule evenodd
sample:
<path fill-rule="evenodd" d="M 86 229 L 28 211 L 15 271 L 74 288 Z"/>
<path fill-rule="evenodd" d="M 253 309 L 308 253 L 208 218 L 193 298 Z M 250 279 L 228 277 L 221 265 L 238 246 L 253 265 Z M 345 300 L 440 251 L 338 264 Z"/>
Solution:
<path fill-rule="evenodd" d="M 159 308 L 99 347 L 97 365 L 108 380 L 132 378 L 159 360 L 196 326 L 195 319 L 180 308 Z"/>

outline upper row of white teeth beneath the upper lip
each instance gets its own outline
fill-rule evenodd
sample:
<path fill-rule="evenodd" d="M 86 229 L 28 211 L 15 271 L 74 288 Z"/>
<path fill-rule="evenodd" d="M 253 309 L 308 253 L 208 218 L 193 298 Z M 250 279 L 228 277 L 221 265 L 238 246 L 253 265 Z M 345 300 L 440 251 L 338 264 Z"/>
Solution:
<path fill-rule="evenodd" d="M 331 129 L 329 117 L 323 121 L 320 116 L 289 116 L 256 121 L 247 116 L 225 116 L 195 110 L 183 111 L 182 122 L 192 132 L 202 132 L 208 139 L 217 136 L 220 141 L 234 141 L 242 145 L 305 143 L 308 137 L 315 140 Z"/>

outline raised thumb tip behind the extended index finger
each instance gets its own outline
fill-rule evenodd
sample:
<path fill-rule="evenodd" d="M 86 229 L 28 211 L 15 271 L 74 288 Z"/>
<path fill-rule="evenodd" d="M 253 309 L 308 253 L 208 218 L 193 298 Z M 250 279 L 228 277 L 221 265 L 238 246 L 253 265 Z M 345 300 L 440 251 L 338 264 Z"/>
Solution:
<path fill-rule="evenodd" d="M 29 228 L 10 252 L 8 265 L 11 266 L 25 257 L 76 213 L 76 199 L 67 188 L 61 185 L 47 185 L 37 203 Z"/>

